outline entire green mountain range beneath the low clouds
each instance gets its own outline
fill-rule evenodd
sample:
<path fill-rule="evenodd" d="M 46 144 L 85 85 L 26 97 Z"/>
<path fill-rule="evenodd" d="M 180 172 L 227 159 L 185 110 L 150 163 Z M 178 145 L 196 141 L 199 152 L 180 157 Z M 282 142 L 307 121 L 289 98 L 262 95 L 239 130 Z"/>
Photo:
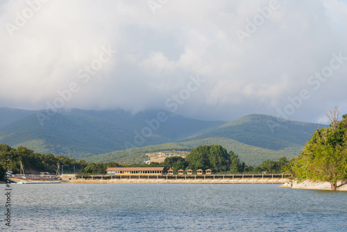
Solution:
<path fill-rule="evenodd" d="M 165 110 L 132 114 L 124 110 L 44 110 L 0 108 L 0 144 L 64 155 L 88 162 L 140 163 L 146 153 L 190 151 L 221 144 L 248 165 L 298 156 L 323 124 L 269 115 L 246 115 L 232 122 L 203 121 Z"/>

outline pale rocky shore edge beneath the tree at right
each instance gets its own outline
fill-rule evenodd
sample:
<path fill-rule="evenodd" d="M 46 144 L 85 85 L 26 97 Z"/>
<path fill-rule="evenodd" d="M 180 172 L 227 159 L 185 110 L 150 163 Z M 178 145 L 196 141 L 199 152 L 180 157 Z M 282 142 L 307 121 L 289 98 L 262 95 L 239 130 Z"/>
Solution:
<path fill-rule="evenodd" d="M 305 189 L 305 190 L 331 190 L 331 185 L 329 182 L 321 182 L 321 181 L 310 181 L 306 180 L 298 183 L 298 181 L 288 181 L 280 185 L 280 187 L 284 188 L 296 188 L 296 189 Z M 339 181 L 337 183 L 337 191 L 347 191 L 347 180 Z"/>

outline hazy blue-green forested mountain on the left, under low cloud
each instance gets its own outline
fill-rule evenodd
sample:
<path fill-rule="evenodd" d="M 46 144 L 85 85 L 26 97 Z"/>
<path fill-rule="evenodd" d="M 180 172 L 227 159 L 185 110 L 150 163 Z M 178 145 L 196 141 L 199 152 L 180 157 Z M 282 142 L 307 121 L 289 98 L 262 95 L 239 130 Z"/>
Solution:
<path fill-rule="evenodd" d="M 132 115 L 124 110 L 74 109 L 49 117 L 42 117 L 44 111 L 24 111 L 19 119 L 12 120 L 11 110 L 2 112 L 0 143 L 76 159 L 173 142 L 225 123 L 189 119 L 162 110 Z M 164 122 L 158 120 L 158 114 Z"/>

